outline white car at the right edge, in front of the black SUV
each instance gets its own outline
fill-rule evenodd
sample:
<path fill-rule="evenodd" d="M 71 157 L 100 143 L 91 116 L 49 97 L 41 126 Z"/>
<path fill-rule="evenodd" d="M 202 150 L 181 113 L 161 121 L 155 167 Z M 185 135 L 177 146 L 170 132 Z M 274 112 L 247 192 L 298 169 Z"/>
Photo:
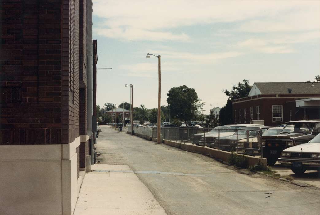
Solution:
<path fill-rule="evenodd" d="M 319 127 L 317 132 L 320 132 Z M 297 175 L 306 170 L 320 170 L 320 133 L 309 143 L 284 149 L 278 162 L 291 168 Z"/>

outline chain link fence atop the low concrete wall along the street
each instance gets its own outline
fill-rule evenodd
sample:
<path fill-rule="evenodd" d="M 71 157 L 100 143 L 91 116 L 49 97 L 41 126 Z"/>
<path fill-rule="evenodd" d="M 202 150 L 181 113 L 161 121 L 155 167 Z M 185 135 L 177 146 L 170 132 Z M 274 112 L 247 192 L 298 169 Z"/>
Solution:
<path fill-rule="evenodd" d="M 133 126 L 135 134 L 157 137 L 156 127 Z M 131 132 L 131 126 L 128 126 Z M 161 127 L 161 138 L 184 144 L 199 145 L 218 150 L 263 157 L 262 129 L 215 129 L 198 127 Z"/>

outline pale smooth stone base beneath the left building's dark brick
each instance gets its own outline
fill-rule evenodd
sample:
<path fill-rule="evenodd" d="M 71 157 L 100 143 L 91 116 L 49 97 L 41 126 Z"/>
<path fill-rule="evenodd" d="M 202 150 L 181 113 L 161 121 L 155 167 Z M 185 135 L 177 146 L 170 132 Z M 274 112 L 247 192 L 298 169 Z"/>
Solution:
<path fill-rule="evenodd" d="M 79 145 L 0 145 L 0 214 L 72 214 Z"/>

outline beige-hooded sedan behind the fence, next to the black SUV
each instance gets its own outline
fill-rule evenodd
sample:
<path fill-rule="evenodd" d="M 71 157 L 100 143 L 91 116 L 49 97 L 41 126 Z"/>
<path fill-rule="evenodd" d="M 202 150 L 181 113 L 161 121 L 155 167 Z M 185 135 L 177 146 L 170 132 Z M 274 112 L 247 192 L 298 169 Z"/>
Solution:
<path fill-rule="evenodd" d="M 268 130 L 266 130 L 267 128 Z M 262 136 L 277 135 L 282 131 L 282 129 L 283 128 L 277 127 L 263 127 Z M 249 138 L 249 142 L 247 142 L 247 139 L 238 141 L 238 153 L 252 156 L 261 155 L 261 145 L 258 143 L 258 137 Z"/>

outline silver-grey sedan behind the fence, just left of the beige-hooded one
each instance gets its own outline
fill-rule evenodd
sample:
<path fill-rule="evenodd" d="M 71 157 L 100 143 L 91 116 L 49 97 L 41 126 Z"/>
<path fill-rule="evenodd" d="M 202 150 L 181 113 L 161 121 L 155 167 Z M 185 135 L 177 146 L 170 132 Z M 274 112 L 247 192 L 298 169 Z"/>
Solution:
<path fill-rule="evenodd" d="M 249 139 L 253 137 L 257 137 L 258 133 L 260 132 L 260 129 L 263 131 L 268 130 L 269 126 L 245 126 L 240 129 L 238 129 L 233 135 L 231 136 L 225 136 L 219 139 L 214 140 L 213 147 L 214 148 L 220 148 L 224 151 L 236 151 L 237 148 L 237 141 L 246 140 L 247 134 Z"/>

